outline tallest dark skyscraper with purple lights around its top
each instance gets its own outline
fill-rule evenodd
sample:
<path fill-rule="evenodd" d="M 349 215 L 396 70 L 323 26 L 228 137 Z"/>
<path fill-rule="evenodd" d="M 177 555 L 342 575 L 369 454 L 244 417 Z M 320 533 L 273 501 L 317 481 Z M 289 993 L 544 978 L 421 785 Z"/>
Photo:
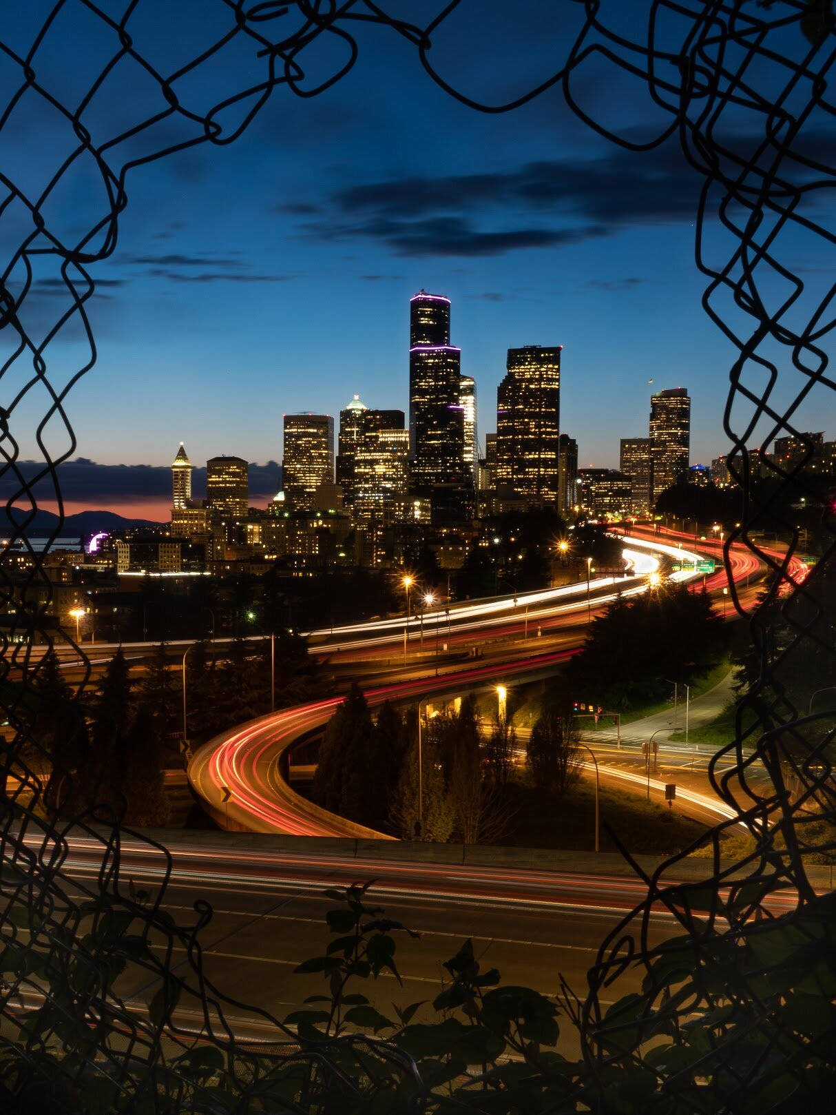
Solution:
<path fill-rule="evenodd" d="M 450 345 L 450 300 L 420 291 L 409 302 L 409 456 L 419 492 L 473 483 L 463 475 L 460 357 Z"/>

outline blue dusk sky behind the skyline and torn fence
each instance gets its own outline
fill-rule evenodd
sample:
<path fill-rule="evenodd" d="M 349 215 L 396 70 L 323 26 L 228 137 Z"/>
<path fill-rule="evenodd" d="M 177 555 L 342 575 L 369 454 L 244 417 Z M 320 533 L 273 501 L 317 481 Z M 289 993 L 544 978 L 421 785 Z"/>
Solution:
<path fill-rule="evenodd" d="M 25 7 L 4 12 L 0 30 L 18 52 L 52 4 Z M 118 17 L 126 4 L 100 7 Z M 139 0 L 129 21 L 134 45 L 173 74 L 234 26 L 233 7 Z M 421 25 L 443 7 L 386 4 Z M 603 9 L 632 20 L 635 35 L 649 7 L 622 0 Z M 434 36 L 432 61 L 468 96 L 511 100 L 554 72 L 582 18 L 571 0 L 466 0 Z M 294 9 L 276 26 L 282 19 L 299 22 Z M 619 438 L 647 436 L 651 394 L 680 386 L 692 397 L 692 462 L 725 453 L 735 350 L 700 306 L 701 180 L 677 137 L 628 153 L 580 120 L 560 86 L 511 113 L 477 113 L 435 85 L 416 47 L 391 28 L 356 25 L 352 33 L 357 64 L 323 94 L 304 99 L 279 86 L 234 143 L 194 146 L 128 172 L 117 245 L 89 268 L 97 362 L 68 396 L 72 456 L 161 466 L 183 440 L 196 465 L 221 453 L 265 464 L 281 460 L 285 413 L 336 417 L 354 392 L 368 406 L 408 410 L 409 298 L 420 288 L 451 299 L 451 342 L 461 348 L 461 371 L 476 379 L 482 444 L 496 427 L 506 349 L 534 343 L 564 347 L 561 426 L 577 439 L 582 466 L 618 467 Z M 33 68 L 55 96 L 78 101 L 117 45 L 89 9 L 68 0 Z M 803 51 L 801 37 L 788 49 Z M 333 36 L 300 56 L 309 86 L 346 59 Z M 201 115 L 264 75 L 256 45 L 234 39 L 174 88 Z M 16 79 L 4 58 L 3 99 Z M 582 66 L 572 91 L 631 142 L 651 139 L 670 122 L 639 83 L 603 60 Z M 138 66 L 120 65 L 85 123 L 100 140 L 159 101 Z M 240 107 L 227 112 L 243 116 Z M 743 143 L 751 126 L 730 117 L 728 134 L 737 130 Z M 7 173 L 12 165 L 27 190 L 42 188 L 70 149 L 67 133 L 56 113 L 23 98 L 0 129 Z M 172 124 L 166 142 L 196 134 L 196 126 Z M 149 146 L 134 138 L 110 163 Z M 814 200 L 814 215 L 827 214 L 832 201 Z M 74 166 L 46 211 L 65 242 L 84 235 L 106 213 L 95 167 Z M 706 246 L 722 263 L 735 244 L 712 223 L 715 212 L 710 205 Z M 815 237 L 787 233 L 777 254 L 805 282 L 829 281 L 832 261 Z M 37 272 L 25 318 L 31 331 L 43 332 L 65 309 L 58 271 Z M 48 375 L 64 382 L 87 347 L 70 324 L 46 357 Z M 784 367 L 778 403 L 799 387 L 786 359 Z M 833 405 L 805 406 L 800 428 L 833 437 Z M 25 459 L 37 459 L 31 432 L 42 410 L 43 395 L 35 392 L 19 408 Z M 50 449 L 60 452 L 66 435 L 56 427 L 50 436 Z M 103 492 L 74 493 L 70 510 L 101 506 Z M 108 505 L 155 507 L 165 517 L 166 502 L 152 492 L 147 501 L 113 492 Z"/>

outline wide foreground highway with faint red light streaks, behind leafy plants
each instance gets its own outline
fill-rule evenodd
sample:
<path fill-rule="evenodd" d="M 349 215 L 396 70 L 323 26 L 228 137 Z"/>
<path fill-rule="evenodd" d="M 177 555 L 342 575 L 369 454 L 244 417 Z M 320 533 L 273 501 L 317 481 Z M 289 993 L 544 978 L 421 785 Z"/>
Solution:
<path fill-rule="evenodd" d="M 156 835 L 156 834 L 155 834 Z M 163 834 L 159 834 L 163 835 Z M 396 932 L 397 963 L 404 978 L 364 983 L 362 990 L 376 1006 L 390 1011 L 391 1002 L 405 1006 L 431 999 L 440 990 L 443 963 L 467 938 L 473 938 L 485 968 L 496 966 L 508 983 L 533 987 L 544 995 L 558 990 L 558 972 L 582 997 L 585 977 L 599 942 L 644 896 L 643 884 L 630 876 L 427 863 L 375 857 L 346 859 L 322 854 L 243 849 L 236 840 L 214 834 L 206 846 L 196 846 L 189 834 L 168 843 L 174 869 L 163 906 L 178 924 L 194 922 L 193 903 L 212 903 L 214 915 L 203 931 L 206 976 L 239 1002 L 283 1017 L 308 995 L 327 988 L 319 976 L 298 976 L 292 969 L 324 951 L 330 939 L 324 912 L 333 901 L 322 896 L 327 886 L 375 880 L 369 894 L 385 906 L 387 917 L 420 932 L 420 940 Z M 255 838 L 257 840 L 257 837 Z M 66 867 L 88 883 L 100 870 L 101 845 L 90 838 L 71 838 Z M 125 838 L 120 878 L 155 890 L 163 859 L 153 847 Z M 704 870 L 709 866 L 706 863 Z M 793 895 L 774 900 L 788 909 Z M 651 918 L 651 941 L 677 930 L 672 915 L 658 910 Z M 178 971 L 187 978 L 186 956 L 175 947 Z M 628 972 L 618 987 L 604 992 L 605 1002 L 638 990 L 640 976 Z M 123 979 L 119 992 L 142 1009 L 156 989 L 145 973 Z M 252 1009 L 232 1008 L 239 1037 L 280 1040 L 281 1035 Z M 431 1012 L 424 1015 L 429 1020 Z M 196 1000 L 185 996 L 177 1020 L 200 1028 Z M 568 1032 L 566 1053 L 576 1051 Z"/>

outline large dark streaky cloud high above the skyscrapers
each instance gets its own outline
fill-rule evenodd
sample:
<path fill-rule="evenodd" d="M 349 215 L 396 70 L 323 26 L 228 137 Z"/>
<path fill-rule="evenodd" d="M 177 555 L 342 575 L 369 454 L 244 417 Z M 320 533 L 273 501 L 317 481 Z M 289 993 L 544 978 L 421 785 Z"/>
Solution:
<path fill-rule="evenodd" d="M 487 256 L 692 220 L 699 177 L 673 144 L 513 171 L 368 183 L 331 195 L 303 235 L 377 240 L 396 255 Z M 301 206 L 300 213 L 305 209 Z"/>

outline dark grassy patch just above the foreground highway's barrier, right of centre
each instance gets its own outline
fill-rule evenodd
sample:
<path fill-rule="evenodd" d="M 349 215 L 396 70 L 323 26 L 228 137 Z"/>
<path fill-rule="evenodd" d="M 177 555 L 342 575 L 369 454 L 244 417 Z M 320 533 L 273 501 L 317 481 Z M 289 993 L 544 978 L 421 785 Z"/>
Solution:
<path fill-rule="evenodd" d="M 500 843 L 516 847 L 554 847 L 592 852 L 595 847 L 595 789 L 580 779 L 562 799 L 533 785 L 527 772 L 508 786 L 514 815 Z M 636 855 L 669 855 L 703 833 L 706 825 L 682 817 L 667 806 L 645 802 L 638 794 L 601 787 L 601 851 L 615 852 L 604 830 L 612 826 L 628 851 Z"/>

